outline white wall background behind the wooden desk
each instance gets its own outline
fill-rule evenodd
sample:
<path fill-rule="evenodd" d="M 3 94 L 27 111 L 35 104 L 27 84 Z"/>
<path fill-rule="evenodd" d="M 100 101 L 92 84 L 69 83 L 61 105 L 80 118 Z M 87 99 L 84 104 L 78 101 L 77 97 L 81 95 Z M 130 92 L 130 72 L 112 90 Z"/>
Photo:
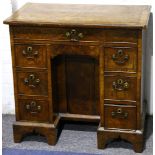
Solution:
<path fill-rule="evenodd" d="M 11 15 L 12 11 L 20 8 L 26 2 L 36 3 L 72 3 L 72 4 L 113 4 L 113 5 L 152 5 L 154 12 L 153 0 L 1 0 L 0 1 L 0 99 L 2 104 L 2 112 L 14 114 L 14 92 L 13 77 L 11 66 L 11 51 L 9 40 L 8 25 L 3 24 L 3 20 Z M 152 33 L 152 32 L 151 32 Z M 149 40 L 151 42 L 151 40 Z M 150 47 L 149 47 L 150 50 Z M 148 102 L 147 112 L 153 114 L 153 82 L 152 82 L 152 51 L 147 53 L 147 61 L 150 65 L 147 68 L 145 98 Z M 150 82 L 151 81 L 151 82 Z"/>

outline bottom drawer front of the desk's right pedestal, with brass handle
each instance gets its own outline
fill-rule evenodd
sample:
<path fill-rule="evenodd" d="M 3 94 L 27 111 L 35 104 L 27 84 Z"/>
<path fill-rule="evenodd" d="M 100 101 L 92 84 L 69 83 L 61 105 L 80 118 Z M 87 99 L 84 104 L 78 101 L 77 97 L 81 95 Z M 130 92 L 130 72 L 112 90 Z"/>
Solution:
<path fill-rule="evenodd" d="M 105 128 L 136 129 L 136 107 L 104 106 Z"/>

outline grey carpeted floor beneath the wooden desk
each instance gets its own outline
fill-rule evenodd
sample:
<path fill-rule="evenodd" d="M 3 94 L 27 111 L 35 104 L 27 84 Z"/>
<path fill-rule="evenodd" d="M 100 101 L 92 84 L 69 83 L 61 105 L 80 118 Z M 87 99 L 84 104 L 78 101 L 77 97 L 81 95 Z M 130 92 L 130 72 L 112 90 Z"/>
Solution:
<path fill-rule="evenodd" d="M 3 148 L 17 148 L 29 150 L 66 151 L 78 153 L 92 153 L 103 155 L 132 155 L 136 154 L 132 145 L 123 140 L 109 143 L 104 150 L 97 149 L 96 130 L 94 124 L 66 123 L 55 146 L 49 146 L 43 136 L 25 137 L 21 143 L 13 142 L 12 123 L 14 115 L 2 116 L 2 145 Z M 143 155 L 153 154 L 153 117 L 146 117 L 145 146 Z M 138 154 L 138 153 L 137 153 Z M 139 153 L 140 154 L 140 153 Z"/>

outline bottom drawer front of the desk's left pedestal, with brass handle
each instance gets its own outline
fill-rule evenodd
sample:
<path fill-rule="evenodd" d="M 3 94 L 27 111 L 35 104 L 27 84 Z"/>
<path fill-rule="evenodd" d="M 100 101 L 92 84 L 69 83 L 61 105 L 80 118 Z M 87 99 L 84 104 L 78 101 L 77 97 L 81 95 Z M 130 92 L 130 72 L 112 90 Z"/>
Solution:
<path fill-rule="evenodd" d="M 48 121 L 48 101 L 21 99 L 19 102 L 20 119 L 26 121 Z"/>

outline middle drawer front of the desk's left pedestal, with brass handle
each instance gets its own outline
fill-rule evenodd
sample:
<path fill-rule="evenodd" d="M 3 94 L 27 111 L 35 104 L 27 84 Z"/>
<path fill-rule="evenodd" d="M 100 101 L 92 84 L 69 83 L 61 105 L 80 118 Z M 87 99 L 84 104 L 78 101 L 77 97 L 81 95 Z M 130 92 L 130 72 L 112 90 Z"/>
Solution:
<path fill-rule="evenodd" d="M 19 95 L 45 95 L 48 92 L 47 72 L 19 71 L 17 74 L 17 88 Z"/>

